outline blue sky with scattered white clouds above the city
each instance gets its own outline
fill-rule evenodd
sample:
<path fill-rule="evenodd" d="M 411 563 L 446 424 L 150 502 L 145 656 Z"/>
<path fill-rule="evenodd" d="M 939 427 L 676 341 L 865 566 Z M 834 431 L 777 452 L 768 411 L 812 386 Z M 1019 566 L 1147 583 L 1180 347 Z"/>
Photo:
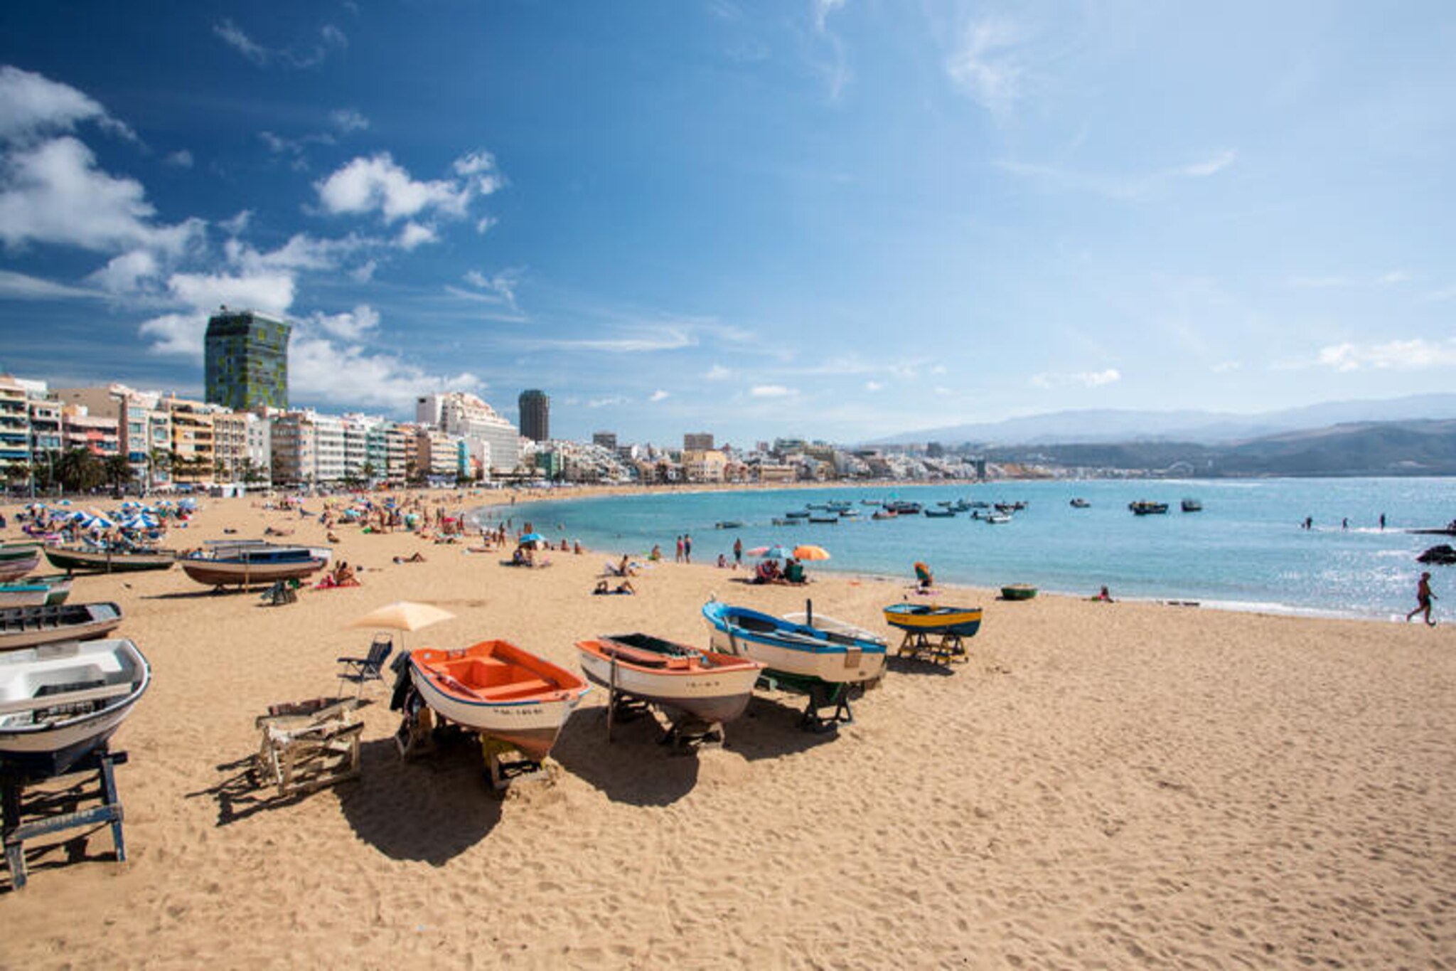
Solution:
<path fill-rule="evenodd" d="M 0 368 L 853 441 L 1456 377 L 1447 3 L 0 9 Z"/>

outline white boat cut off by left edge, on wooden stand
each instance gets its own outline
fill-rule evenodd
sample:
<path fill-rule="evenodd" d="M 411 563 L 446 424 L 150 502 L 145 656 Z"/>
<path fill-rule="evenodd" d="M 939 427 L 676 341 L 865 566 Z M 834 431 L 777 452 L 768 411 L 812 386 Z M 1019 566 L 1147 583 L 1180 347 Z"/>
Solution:
<path fill-rule="evenodd" d="M 102 747 L 151 683 L 124 638 L 0 654 L 0 766 L 55 776 Z"/>

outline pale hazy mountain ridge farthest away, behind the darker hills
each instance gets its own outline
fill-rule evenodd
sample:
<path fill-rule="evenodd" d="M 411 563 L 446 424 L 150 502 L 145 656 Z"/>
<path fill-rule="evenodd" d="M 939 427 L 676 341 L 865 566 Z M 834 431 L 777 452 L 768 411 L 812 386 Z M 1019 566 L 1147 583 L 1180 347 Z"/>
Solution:
<path fill-rule="evenodd" d="M 1051 445 L 1179 441 L 1204 445 L 1287 432 L 1370 422 L 1456 419 L 1456 395 L 1414 395 L 1388 400 L 1325 402 L 1255 415 L 1172 411 L 1069 411 L 999 422 L 946 425 L 879 438 L 871 445 L 938 441 L 942 445 Z"/>

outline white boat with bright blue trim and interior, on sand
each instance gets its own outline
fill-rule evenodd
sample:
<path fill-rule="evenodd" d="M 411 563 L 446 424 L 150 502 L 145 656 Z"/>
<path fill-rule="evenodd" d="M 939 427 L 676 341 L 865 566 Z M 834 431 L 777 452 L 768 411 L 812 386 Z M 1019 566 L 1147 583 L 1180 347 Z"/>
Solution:
<path fill-rule="evenodd" d="M 713 651 L 759 661 L 770 677 L 863 684 L 885 670 L 885 642 L 865 632 L 812 627 L 716 600 L 703 604 L 703 619 Z"/>

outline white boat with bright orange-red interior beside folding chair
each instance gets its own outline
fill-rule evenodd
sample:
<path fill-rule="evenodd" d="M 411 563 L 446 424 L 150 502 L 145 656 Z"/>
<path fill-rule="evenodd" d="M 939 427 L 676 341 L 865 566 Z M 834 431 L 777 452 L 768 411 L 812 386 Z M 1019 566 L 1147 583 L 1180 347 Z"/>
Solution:
<path fill-rule="evenodd" d="M 409 677 L 435 715 L 537 763 L 550 754 L 561 726 L 591 690 L 566 668 L 508 641 L 411 651 Z"/>

